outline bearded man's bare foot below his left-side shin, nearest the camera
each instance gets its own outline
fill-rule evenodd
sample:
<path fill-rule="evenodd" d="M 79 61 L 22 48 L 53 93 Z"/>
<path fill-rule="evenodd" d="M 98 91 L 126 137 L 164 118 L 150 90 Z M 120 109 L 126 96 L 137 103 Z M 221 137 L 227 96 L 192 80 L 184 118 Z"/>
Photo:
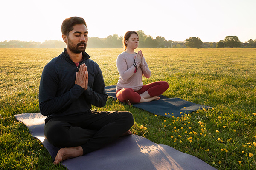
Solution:
<path fill-rule="evenodd" d="M 84 152 L 81 146 L 61 148 L 58 151 L 53 164 L 59 164 L 61 161 L 82 156 L 83 154 Z"/>

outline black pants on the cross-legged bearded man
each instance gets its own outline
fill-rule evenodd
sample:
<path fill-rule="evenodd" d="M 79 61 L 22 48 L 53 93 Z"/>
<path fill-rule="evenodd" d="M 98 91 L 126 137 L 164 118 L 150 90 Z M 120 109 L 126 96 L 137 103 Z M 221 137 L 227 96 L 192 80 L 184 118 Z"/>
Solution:
<path fill-rule="evenodd" d="M 122 136 L 134 124 L 130 112 L 95 112 L 54 117 L 46 122 L 44 135 L 56 147 L 81 146 L 90 153 Z"/>

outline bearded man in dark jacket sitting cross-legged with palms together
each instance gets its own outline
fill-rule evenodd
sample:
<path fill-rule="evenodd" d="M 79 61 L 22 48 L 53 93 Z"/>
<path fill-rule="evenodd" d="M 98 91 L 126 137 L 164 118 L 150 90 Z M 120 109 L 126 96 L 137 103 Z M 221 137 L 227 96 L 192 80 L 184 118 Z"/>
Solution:
<path fill-rule="evenodd" d="M 88 41 L 83 18 L 70 17 L 61 26 L 67 45 L 42 72 L 39 107 L 45 119 L 44 135 L 61 147 L 54 164 L 103 147 L 122 135 L 129 135 L 134 124 L 127 111 L 91 111 L 91 105 L 103 107 L 108 95 L 102 72 L 84 52 Z"/>

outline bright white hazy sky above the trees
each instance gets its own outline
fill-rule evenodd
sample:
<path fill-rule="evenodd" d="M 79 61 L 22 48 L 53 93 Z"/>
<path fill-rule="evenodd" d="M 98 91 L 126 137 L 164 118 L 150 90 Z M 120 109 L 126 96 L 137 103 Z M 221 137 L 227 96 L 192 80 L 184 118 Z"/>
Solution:
<path fill-rule="evenodd" d="M 236 35 L 245 42 L 256 39 L 255 7 L 256 0 L 3 0 L 0 41 L 62 40 L 62 21 L 79 16 L 89 37 L 143 30 L 173 41 Z"/>

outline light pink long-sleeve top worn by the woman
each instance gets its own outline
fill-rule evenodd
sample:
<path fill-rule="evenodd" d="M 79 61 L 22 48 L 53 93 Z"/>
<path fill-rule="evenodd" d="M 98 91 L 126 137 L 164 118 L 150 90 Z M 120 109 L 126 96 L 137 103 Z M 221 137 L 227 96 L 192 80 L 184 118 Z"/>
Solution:
<path fill-rule="evenodd" d="M 144 56 L 142 59 L 135 59 L 138 70 L 136 73 L 134 73 L 136 69 L 133 66 L 134 57 L 136 57 L 136 54 L 133 55 L 126 52 L 122 52 L 118 55 L 116 59 L 116 67 L 120 77 L 116 86 L 116 90 L 122 88 L 132 88 L 134 91 L 138 91 L 143 86 L 142 74 L 146 78 L 150 77 L 151 71 L 148 68 L 148 64 Z"/>

